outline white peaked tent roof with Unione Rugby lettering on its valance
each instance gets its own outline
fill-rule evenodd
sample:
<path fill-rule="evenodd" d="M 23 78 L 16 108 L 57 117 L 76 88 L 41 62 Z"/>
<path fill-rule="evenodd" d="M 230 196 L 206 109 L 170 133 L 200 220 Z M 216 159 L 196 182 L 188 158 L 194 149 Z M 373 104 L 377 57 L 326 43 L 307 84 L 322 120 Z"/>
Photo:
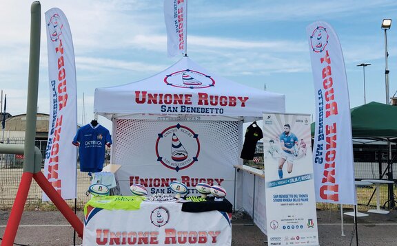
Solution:
<path fill-rule="evenodd" d="M 97 88 L 94 112 L 111 118 L 136 115 L 210 115 L 258 118 L 284 112 L 285 96 L 232 82 L 183 57 L 150 78 Z"/>

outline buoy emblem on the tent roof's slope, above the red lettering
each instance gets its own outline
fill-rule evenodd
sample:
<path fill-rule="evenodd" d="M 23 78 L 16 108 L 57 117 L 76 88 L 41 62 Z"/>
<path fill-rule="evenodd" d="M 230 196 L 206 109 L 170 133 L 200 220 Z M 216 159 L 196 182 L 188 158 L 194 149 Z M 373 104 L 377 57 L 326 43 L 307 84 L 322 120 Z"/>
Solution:
<path fill-rule="evenodd" d="M 205 75 L 199 71 L 190 69 L 176 71 L 165 76 L 164 82 L 166 85 L 179 88 L 201 89 L 213 87 L 215 80 L 211 76 Z"/>

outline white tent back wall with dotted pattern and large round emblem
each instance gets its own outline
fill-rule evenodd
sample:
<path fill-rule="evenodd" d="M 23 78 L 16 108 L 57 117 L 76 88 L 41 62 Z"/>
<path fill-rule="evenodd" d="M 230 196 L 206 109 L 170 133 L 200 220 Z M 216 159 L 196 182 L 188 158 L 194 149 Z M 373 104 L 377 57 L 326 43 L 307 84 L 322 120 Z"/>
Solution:
<path fill-rule="evenodd" d="M 112 163 L 121 164 L 117 179 L 124 195 L 141 183 L 150 194 L 171 193 L 172 181 L 182 181 L 190 195 L 197 183 L 223 186 L 234 197 L 233 165 L 239 158 L 242 122 L 113 120 Z"/>

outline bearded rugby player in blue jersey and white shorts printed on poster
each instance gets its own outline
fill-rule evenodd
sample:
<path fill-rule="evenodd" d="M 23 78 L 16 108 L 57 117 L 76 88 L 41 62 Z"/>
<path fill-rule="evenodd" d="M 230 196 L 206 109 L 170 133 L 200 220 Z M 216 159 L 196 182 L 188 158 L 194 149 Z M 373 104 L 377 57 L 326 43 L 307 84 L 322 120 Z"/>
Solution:
<path fill-rule="evenodd" d="M 298 155 L 296 145 L 298 144 L 298 137 L 294 133 L 291 133 L 291 126 L 289 124 L 284 125 L 284 131 L 280 135 L 281 144 L 281 155 L 278 159 L 278 177 L 283 179 L 283 166 L 287 161 L 287 172 L 292 172 L 294 166 L 294 158 Z"/>

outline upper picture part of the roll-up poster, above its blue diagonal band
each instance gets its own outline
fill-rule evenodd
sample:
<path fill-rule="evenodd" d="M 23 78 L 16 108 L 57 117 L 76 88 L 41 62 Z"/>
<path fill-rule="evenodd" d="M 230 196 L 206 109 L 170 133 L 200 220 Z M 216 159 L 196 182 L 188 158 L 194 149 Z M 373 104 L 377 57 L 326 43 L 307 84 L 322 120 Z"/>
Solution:
<path fill-rule="evenodd" d="M 307 148 L 311 139 L 307 115 L 269 114 L 263 120 L 265 172 L 272 179 L 285 179 L 305 173 Z M 298 169 L 298 170 L 296 170 Z"/>

